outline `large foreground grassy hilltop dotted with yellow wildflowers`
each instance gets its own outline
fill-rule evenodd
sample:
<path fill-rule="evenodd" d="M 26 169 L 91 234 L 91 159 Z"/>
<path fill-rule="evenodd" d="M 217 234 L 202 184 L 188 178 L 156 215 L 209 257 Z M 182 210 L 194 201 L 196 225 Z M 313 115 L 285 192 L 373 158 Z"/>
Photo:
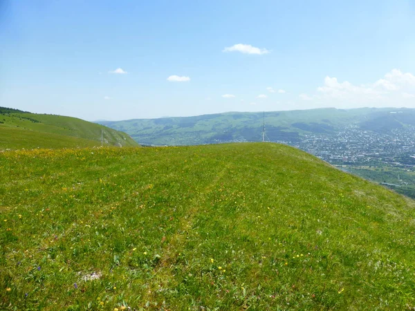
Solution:
<path fill-rule="evenodd" d="M 0 308 L 413 310 L 413 200 L 280 144 L 0 154 Z"/>

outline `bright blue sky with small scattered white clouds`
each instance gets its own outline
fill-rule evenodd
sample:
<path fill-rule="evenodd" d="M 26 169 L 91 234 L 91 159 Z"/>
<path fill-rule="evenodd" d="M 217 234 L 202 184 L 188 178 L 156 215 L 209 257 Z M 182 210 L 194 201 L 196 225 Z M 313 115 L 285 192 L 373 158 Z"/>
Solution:
<path fill-rule="evenodd" d="M 86 120 L 415 108 L 414 55 L 410 0 L 0 0 L 0 106 Z"/>

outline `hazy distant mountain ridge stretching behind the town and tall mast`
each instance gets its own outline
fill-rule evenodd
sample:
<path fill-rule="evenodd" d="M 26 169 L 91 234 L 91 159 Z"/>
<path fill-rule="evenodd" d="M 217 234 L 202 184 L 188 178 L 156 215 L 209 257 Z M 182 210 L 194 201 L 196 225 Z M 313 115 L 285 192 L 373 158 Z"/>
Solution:
<path fill-rule="evenodd" d="M 162 117 L 98 122 L 124 131 L 141 144 L 185 145 L 259 141 L 264 113 L 216 113 L 195 117 Z M 311 109 L 265 113 L 267 140 L 295 144 L 310 133 L 330 135 L 355 126 L 388 132 L 415 125 L 415 109 Z"/>

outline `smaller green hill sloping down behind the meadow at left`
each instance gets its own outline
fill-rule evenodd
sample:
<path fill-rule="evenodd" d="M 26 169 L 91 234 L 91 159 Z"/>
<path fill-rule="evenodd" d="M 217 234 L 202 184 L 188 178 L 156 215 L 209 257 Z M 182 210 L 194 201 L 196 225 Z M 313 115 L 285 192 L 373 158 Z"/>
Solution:
<path fill-rule="evenodd" d="M 137 146 L 129 135 L 75 117 L 42 115 L 0 107 L 0 150 Z"/>

